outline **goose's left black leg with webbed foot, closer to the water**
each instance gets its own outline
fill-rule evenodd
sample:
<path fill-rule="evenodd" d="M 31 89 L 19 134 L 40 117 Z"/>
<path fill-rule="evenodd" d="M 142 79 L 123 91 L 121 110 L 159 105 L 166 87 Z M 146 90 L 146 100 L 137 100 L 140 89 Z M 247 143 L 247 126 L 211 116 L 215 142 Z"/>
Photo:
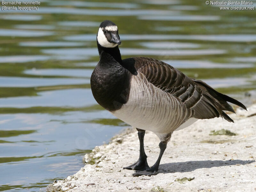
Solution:
<path fill-rule="evenodd" d="M 128 167 L 124 167 L 124 169 L 144 171 L 144 170 L 149 169 L 148 162 L 147 162 L 147 156 L 146 156 L 146 153 L 144 151 L 145 130 L 138 129 L 138 128 L 136 128 L 136 129 L 138 131 L 138 137 L 139 137 L 139 140 L 140 140 L 140 156 L 139 156 L 139 159 L 135 163 L 131 164 Z"/>

